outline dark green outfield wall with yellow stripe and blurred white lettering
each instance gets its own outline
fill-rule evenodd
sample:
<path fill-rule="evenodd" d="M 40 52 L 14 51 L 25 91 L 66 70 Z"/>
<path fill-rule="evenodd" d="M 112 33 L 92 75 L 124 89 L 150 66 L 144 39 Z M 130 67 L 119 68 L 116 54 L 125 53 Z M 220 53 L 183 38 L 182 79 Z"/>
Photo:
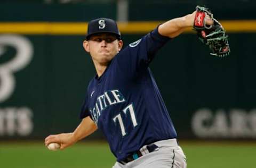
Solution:
<path fill-rule="evenodd" d="M 16 13 L 7 10 L 11 7 Z M 73 131 L 80 122 L 95 74 L 82 47 L 86 21 L 102 15 L 115 19 L 115 4 L 99 7 L 94 15 L 83 11 L 92 6 L 62 7 L 0 6 L 0 140 L 42 139 Z M 254 16 L 222 18 L 231 48 L 226 58 L 210 56 L 189 29 L 157 53 L 150 69 L 180 138 L 256 139 Z M 125 46 L 162 22 L 145 21 L 118 23 Z M 90 138 L 103 137 L 96 132 Z"/>

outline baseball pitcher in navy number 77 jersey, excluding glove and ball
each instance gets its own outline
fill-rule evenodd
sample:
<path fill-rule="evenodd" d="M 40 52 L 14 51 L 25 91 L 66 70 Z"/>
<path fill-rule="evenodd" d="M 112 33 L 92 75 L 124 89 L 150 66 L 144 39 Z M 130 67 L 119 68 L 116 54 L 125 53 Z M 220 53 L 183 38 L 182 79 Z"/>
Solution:
<path fill-rule="evenodd" d="M 83 47 L 97 73 L 87 87 L 82 122 L 74 132 L 46 137 L 45 145 L 56 142 L 65 149 L 100 129 L 116 157 L 114 168 L 186 167 L 149 65 L 163 45 L 198 22 L 197 12 L 162 23 L 125 48 L 114 20 L 90 21 Z M 207 13 L 201 19 L 214 24 Z"/>

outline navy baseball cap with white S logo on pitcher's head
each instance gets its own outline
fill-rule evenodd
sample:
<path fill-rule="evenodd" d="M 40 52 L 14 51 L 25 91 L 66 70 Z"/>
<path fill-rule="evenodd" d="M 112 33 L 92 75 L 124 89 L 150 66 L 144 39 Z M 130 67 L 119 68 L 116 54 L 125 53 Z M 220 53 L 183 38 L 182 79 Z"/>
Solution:
<path fill-rule="evenodd" d="M 116 35 L 117 39 L 121 39 L 121 33 L 114 20 L 108 18 L 98 18 L 91 20 L 88 24 L 86 40 L 95 33 L 108 32 Z"/>

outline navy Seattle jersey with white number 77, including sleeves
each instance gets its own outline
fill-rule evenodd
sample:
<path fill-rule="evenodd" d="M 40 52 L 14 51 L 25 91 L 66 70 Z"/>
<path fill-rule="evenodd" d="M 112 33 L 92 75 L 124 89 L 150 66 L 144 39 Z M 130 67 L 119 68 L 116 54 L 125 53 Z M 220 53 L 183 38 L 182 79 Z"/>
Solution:
<path fill-rule="evenodd" d="M 170 38 L 151 31 L 119 52 L 89 83 L 81 119 L 90 116 L 122 161 L 143 145 L 177 138 L 169 113 L 148 67 Z"/>

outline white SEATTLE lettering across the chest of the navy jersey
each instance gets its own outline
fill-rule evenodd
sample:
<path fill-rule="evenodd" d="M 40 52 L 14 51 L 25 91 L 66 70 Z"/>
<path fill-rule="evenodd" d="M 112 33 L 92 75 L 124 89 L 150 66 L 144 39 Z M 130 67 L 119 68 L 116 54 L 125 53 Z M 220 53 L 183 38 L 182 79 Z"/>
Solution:
<path fill-rule="evenodd" d="M 118 89 L 105 91 L 97 98 L 94 107 L 90 108 L 92 119 L 98 125 L 99 116 L 104 109 L 122 102 L 125 102 L 125 98 Z"/>

